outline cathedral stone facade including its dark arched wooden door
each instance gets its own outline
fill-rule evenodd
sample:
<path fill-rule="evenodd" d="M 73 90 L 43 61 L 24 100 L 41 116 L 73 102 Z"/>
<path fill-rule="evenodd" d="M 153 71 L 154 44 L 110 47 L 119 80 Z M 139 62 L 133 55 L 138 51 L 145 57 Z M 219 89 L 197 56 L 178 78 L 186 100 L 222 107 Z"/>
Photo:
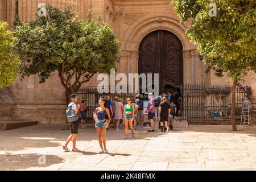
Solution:
<path fill-rule="evenodd" d="M 180 23 L 170 0 L 0 0 L 0 20 L 13 24 L 18 14 L 22 22 L 36 18 L 39 3 L 49 3 L 64 9 L 71 5 L 86 19 L 89 9 L 93 17 L 101 18 L 112 27 L 122 42 L 117 73 L 160 73 L 159 89 L 178 88 L 182 84 L 232 85 L 228 77 L 218 78 L 199 59 L 196 46 L 189 42 L 185 31 L 189 22 Z M 256 74 L 250 72 L 242 85 L 252 88 L 251 102 L 256 104 Z M 84 86 L 97 86 L 97 75 Z M 2 119 L 27 119 L 42 123 L 63 123 L 66 96 L 57 74 L 44 84 L 38 77 L 24 80 L 1 91 L 10 100 L 1 101 Z M 4 110 L 11 110 L 6 112 Z"/>

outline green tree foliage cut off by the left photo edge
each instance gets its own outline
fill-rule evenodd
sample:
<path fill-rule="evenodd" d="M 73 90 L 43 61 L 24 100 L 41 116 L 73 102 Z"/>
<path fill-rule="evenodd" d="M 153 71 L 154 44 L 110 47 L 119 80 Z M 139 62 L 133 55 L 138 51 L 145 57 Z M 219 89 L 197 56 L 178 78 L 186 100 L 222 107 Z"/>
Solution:
<path fill-rule="evenodd" d="M 0 89 L 14 84 L 20 65 L 20 60 L 13 51 L 12 32 L 7 27 L 6 22 L 0 22 Z"/>

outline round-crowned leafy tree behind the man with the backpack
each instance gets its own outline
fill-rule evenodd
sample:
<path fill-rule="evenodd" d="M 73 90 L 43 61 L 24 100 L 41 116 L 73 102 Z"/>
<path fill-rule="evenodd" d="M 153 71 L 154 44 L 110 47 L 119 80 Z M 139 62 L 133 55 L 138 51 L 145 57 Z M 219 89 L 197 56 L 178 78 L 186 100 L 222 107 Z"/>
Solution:
<path fill-rule="evenodd" d="M 47 16 L 16 26 L 15 49 L 22 60 L 22 77 L 38 75 L 43 83 L 57 71 L 68 96 L 76 93 L 97 72 L 115 68 L 121 43 L 108 24 L 75 16 L 47 5 Z M 16 23 L 19 24 L 19 23 Z"/>

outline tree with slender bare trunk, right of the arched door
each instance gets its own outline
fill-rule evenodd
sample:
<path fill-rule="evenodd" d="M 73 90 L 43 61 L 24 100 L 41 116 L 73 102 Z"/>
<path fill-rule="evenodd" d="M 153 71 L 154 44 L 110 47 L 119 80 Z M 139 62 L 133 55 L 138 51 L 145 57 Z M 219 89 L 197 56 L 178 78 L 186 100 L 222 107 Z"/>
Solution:
<path fill-rule="evenodd" d="M 212 3 L 213 2 L 213 3 Z M 174 0 L 181 22 L 191 20 L 187 35 L 198 44 L 217 76 L 233 78 L 231 121 L 236 127 L 236 85 L 248 71 L 256 72 L 256 9 L 253 0 Z M 216 5 L 217 14 L 214 15 Z"/>

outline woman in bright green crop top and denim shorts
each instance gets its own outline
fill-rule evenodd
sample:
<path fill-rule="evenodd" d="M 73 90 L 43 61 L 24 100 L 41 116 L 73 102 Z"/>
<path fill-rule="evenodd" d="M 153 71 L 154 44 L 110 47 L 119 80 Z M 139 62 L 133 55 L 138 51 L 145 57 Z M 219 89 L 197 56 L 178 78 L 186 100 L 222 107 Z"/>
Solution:
<path fill-rule="evenodd" d="M 134 105 L 131 104 L 131 99 L 127 98 L 127 104 L 125 105 L 125 109 L 123 110 L 123 120 L 125 121 L 125 139 L 128 138 L 128 123 L 133 133 L 133 137 L 135 137 L 134 129 L 133 129 L 133 120 L 134 120 Z"/>

